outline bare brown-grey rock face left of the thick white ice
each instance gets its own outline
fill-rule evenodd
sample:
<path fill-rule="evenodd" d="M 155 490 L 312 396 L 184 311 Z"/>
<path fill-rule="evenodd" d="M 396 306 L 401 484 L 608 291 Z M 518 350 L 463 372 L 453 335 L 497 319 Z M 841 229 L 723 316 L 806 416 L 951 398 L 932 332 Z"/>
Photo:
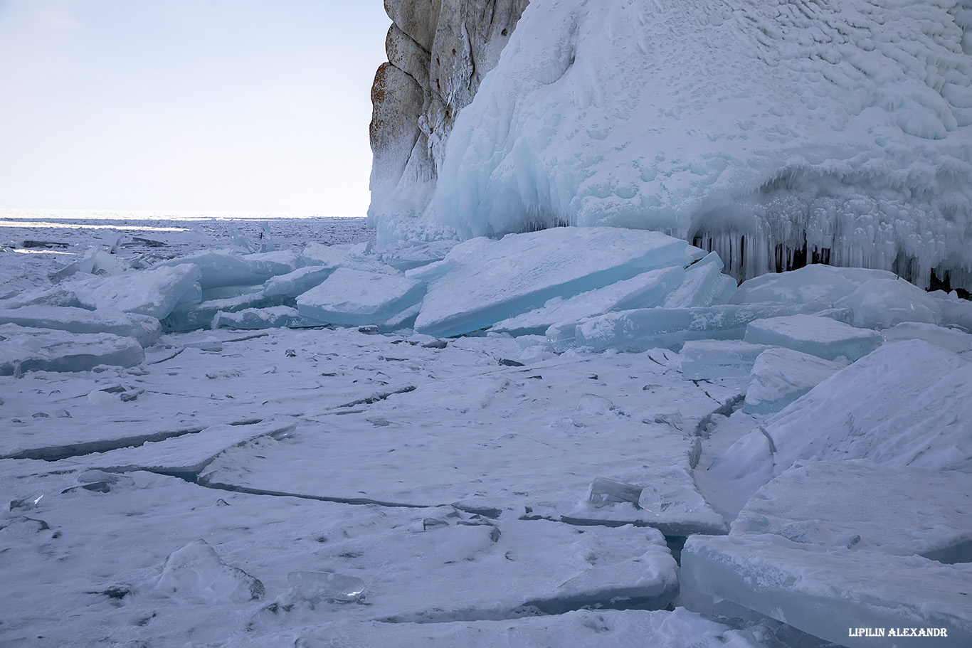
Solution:
<path fill-rule="evenodd" d="M 385 0 L 388 62 L 371 88 L 371 207 L 420 214 L 459 112 L 493 69 L 529 0 Z"/>

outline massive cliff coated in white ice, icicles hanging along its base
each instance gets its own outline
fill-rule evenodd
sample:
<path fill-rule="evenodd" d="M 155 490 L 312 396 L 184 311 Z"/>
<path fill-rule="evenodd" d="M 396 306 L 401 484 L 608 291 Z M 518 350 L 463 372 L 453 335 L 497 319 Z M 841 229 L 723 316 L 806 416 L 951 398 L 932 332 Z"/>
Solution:
<path fill-rule="evenodd" d="M 443 23 L 444 5 L 429 83 L 452 83 L 428 104 L 454 97 L 455 116 L 475 96 L 451 133 L 415 111 L 411 142 L 376 101 L 380 236 L 623 225 L 716 250 L 737 277 L 806 256 L 972 286 L 969 0 L 534 0 L 471 77 L 463 44 L 490 59 L 505 36 L 473 40 L 458 16 L 474 12 Z M 445 25 L 469 35 L 443 67 Z"/>

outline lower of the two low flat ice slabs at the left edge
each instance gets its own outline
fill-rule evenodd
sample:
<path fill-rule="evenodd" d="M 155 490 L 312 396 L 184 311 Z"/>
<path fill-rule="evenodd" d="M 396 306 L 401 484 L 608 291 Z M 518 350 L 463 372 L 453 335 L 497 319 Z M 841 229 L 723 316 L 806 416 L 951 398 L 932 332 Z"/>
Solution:
<path fill-rule="evenodd" d="M 0 324 L 0 376 L 87 371 L 99 364 L 129 367 L 144 359 L 142 345 L 133 337 Z"/>

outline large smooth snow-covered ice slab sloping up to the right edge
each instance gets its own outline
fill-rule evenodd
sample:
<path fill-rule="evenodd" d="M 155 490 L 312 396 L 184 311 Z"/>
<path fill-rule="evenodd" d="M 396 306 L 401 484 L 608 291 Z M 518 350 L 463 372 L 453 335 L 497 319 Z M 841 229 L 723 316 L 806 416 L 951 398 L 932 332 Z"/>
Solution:
<path fill-rule="evenodd" d="M 797 460 L 874 460 L 972 472 L 972 361 L 887 343 L 746 434 L 713 464 L 779 475 Z M 718 467 L 721 466 L 721 467 Z"/>

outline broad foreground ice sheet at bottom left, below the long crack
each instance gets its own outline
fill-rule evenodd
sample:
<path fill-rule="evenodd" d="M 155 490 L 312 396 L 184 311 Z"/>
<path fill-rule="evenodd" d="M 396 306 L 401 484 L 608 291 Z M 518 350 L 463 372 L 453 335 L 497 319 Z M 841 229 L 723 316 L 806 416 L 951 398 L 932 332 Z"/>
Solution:
<path fill-rule="evenodd" d="M 555 611 L 644 597 L 663 607 L 677 589 L 675 560 L 655 529 L 492 523 L 452 507 L 347 506 L 212 491 L 143 471 L 108 475 L 114 481 L 107 492 L 94 492 L 81 488 L 90 481 L 87 472 L 71 461 L 55 463 L 48 474 L 0 473 L 5 488 L 17 481 L 20 491 L 45 494 L 0 517 L 4 645 L 233 644 L 334 622 L 366 636 L 375 627 L 358 622 L 381 619 L 508 619 L 509 627 L 536 612 L 532 601 Z M 220 561 L 259 579 L 263 597 L 233 602 L 220 588 L 187 581 L 174 593 L 156 590 L 167 557 L 199 538 Z M 290 590 L 294 571 L 361 578 L 366 604 L 312 605 Z M 599 627 L 631 641 L 635 629 L 622 620 L 643 621 L 643 614 L 609 614 L 616 621 Z M 701 622 L 684 612 L 666 621 L 667 614 L 652 615 L 650 625 Z"/>

